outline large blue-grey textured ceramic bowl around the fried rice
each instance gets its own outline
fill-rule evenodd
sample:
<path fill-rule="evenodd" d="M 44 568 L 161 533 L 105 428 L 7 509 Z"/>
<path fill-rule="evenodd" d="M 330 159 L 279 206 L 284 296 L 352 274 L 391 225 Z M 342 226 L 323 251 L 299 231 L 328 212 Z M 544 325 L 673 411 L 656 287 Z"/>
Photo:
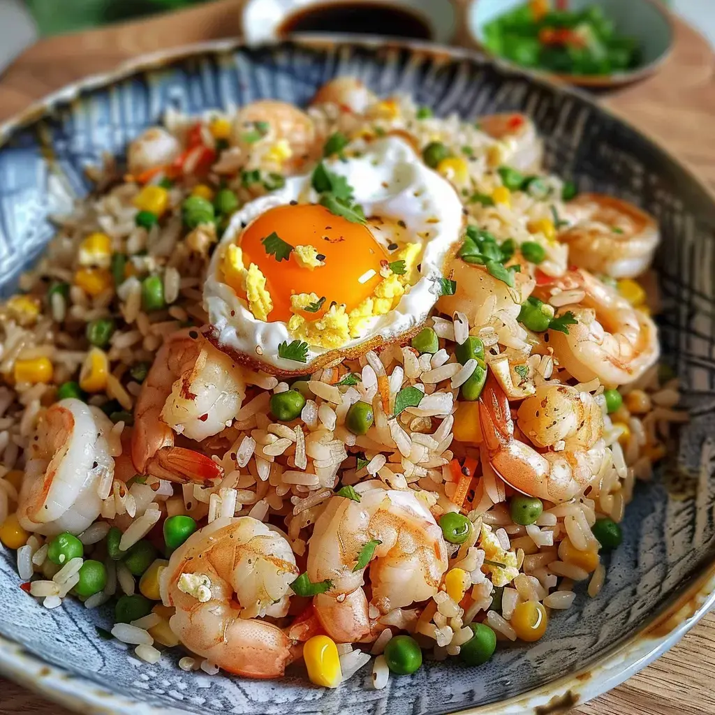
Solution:
<path fill-rule="evenodd" d="M 0 672 L 77 710 L 126 715 L 540 715 L 615 686 L 674 644 L 715 601 L 715 202 L 674 157 L 590 99 L 464 51 L 386 41 L 222 43 L 134 62 L 67 87 L 0 129 L 0 285 L 7 294 L 53 233 L 49 216 L 90 190 L 84 169 L 122 155 L 169 107 L 202 112 L 259 97 L 305 104 L 331 77 L 375 92 L 409 92 L 445 116 L 528 112 L 549 169 L 582 190 L 616 194 L 656 216 L 664 355 L 680 375 L 691 423 L 680 448 L 637 486 L 622 545 L 605 557 L 598 598 L 578 587 L 546 636 L 498 649 L 480 668 L 425 662 L 371 688 L 365 667 L 335 690 L 300 671 L 282 681 L 184 673 L 178 650 L 155 665 L 103 640 L 109 608 L 77 601 L 47 610 L 19 588 L 0 548 Z"/>

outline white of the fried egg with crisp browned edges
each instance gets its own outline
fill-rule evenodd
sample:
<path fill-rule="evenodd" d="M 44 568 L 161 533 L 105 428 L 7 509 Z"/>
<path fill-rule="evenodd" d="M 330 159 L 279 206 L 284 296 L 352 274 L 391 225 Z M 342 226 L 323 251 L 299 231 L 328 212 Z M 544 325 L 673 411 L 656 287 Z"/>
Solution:
<path fill-rule="evenodd" d="M 357 146 L 352 144 L 352 147 Z M 362 205 L 365 216 L 395 222 L 401 220 L 406 225 L 405 238 L 409 242 L 423 243 L 418 281 L 406 288 L 394 310 L 369 318 L 360 337 L 337 349 L 310 345 L 305 364 L 280 358 L 278 345 L 294 340 L 286 323 L 257 320 L 220 277 L 227 246 L 237 242 L 243 227 L 252 220 L 268 209 L 290 201 L 317 202 L 318 194 L 311 187 L 312 172 L 289 177 L 282 189 L 255 199 L 235 212 L 212 256 L 204 283 L 204 309 L 220 347 L 271 365 L 274 370 L 309 372 L 311 363 L 327 352 L 335 352 L 337 356 L 343 350 L 355 352 L 361 343 L 374 341 L 375 338 L 385 342 L 395 340 L 398 335 L 410 332 L 426 320 L 439 297 L 437 280 L 443 275 L 445 260 L 450 249 L 460 240 L 462 203 L 452 185 L 425 166 L 403 139 L 385 137 L 364 144 L 360 149 L 363 151 L 360 157 L 349 157 L 346 161 L 326 160 L 325 164 L 331 172 L 347 179 L 355 202 Z M 379 227 L 370 226 L 370 230 L 375 240 L 385 247 L 388 245 L 390 238 Z M 420 238 L 419 234 L 425 232 L 429 232 L 429 237 Z M 316 283 L 320 282 L 319 271 L 316 270 Z"/>

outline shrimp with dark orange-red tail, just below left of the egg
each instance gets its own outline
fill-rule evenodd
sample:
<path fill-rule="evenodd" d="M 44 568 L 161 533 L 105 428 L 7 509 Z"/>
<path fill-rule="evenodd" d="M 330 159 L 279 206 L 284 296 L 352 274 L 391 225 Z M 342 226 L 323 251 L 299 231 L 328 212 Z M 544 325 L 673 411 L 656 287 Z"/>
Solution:
<path fill-rule="evenodd" d="M 132 461 L 137 472 L 211 485 L 222 475 L 212 459 L 174 445 L 200 442 L 235 418 L 246 396 L 241 368 L 197 330 L 179 330 L 157 352 L 134 408 Z"/>

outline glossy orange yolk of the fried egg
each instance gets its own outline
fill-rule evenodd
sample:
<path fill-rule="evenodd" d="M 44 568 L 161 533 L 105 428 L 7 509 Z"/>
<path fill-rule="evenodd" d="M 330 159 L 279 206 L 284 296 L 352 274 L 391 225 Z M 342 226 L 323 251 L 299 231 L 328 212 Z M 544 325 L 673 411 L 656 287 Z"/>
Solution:
<path fill-rule="evenodd" d="M 295 250 L 288 260 L 277 260 L 266 252 L 262 241 L 273 233 L 291 247 L 313 246 L 325 265 L 300 265 Z M 317 320 L 335 301 L 348 312 L 373 295 L 382 277 L 380 262 L 389 260 L 385 249 L 370 229 L 336 216 L 320 204 L 296 204 L 269 209 L 257 217 L 240 236 L 246 267 L 257 265 L 266 279 L 273 301 L 269 322 L 287 322 L 293 315 L 290 296 L 315 293 L 325 297 L 322 310 L 302 312 L 307 320 Z"/>

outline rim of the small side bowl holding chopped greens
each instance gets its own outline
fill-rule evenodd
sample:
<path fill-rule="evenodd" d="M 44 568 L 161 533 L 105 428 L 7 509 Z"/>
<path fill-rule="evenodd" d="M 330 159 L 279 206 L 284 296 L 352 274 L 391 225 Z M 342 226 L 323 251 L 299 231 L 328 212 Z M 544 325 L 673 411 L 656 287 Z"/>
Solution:
<path fill-rule="evenodd" d="M 560 72 L 550 72 L 548 70 L 538 69 L 532 70 L 533 73 L 546 77 L 546 79 L 556 79 L 558 82 L 566 82 L 567 84 L 576 85 L 576 87 L 592 87 L 593 89 L 622 87 L 625 84 L 633 84 L 641 79 L 650 77 L 651 74 L 654 74 L 656 71 L 661 69 L 661 67 L 671 58 L 671 55 L 673 54 L 673 48 L 675 45 L 675 17 L 673 12 L 662 4 L 660 0 L 642 1 L 651 5 L 653 9 L 660 14 L 661 18 L 664 19 L 668 30 L 668 42 L 665 49 L 661 52 L 661 54 L 659 54 L 659 56 L 656 57 L 656 59 L 651 60 L 648 64 L 634 67 L 626 72 L 613 72 L 611 74 L 562 74 Z M 509 61 L 508 59 L 495 54 L 482 41 L 480 41 L 475 32 L 475 22 L 473 21 L 474 9 L 478 2 L 479 0 L 469 0 L 464 11 L 465 31 L 469 39 L 474 43 L 476 49 L 483 52 L 486 56 L 498 59 L 514 69 L 526 69 L 516 64 L 516 62 Z"/>

